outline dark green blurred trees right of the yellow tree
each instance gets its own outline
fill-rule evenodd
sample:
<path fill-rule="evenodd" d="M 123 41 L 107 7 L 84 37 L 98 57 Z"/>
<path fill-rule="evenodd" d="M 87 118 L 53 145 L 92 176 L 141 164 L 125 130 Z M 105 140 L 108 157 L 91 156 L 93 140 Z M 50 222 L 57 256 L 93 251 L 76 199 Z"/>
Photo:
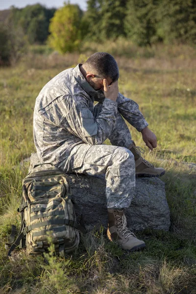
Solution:
<path fill-rule="evenodd" d="M 88 0 L 87 5 L 87 36 L 95 40 L 196 43 L 196 0 Z"/>

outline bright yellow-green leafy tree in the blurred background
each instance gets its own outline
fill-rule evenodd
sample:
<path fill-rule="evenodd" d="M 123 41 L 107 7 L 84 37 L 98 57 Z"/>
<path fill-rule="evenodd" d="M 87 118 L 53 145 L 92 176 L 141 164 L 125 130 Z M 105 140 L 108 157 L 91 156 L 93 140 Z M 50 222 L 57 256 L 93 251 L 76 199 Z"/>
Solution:
<path fill-rule="evenodd" d="M 61 53 L 77 50 L 81 40 L 81 17 L 78 5 L 65 3 L 58 9 L 50 21 L 49 45 Z"/>

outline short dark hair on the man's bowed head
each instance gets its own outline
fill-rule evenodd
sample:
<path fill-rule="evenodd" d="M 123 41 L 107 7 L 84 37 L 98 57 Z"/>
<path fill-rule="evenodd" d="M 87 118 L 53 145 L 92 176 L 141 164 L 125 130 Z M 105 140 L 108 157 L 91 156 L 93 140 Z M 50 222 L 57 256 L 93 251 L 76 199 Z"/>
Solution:
<path fill-rule="evenodd" d="M 119 68 L 116 60 L 107 52 L 97 52 L 91 55 L 84 65 L 96 70 L 101 77 L 110 77 L 113 82 L 119 78 Z"/>

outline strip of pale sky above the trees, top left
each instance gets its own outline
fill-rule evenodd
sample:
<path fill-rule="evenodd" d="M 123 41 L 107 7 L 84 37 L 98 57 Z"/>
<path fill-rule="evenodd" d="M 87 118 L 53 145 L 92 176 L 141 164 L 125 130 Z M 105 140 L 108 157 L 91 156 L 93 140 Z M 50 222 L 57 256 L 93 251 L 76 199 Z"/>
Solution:
<path fill-rule="evenodd" d="M 40 3 L 47 8 L 59 8 L 63 6 L 65 0 L 0 0 L 0 10 L 8 9 L 14 5 L 18 8 L 23 8 L 26 5 Z M 66 1 L 67 2 L 67 1 Z M 70 0 L 71 4 L 78 4 L 82 10 L 86 10 L 86 0 Z"/>

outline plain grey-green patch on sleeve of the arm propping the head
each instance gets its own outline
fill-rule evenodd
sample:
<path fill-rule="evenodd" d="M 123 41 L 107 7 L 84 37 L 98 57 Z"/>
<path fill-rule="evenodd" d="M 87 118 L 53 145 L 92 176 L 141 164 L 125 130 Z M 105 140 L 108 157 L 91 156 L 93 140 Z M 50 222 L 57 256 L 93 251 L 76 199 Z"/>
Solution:
<path fill-rule="evenodd" d="M 95 123 L 94 116 L 89 109 L 81 109 L 80 118 L 85 137 L 91 137 L 98 133 L 98 125 Z"/>

